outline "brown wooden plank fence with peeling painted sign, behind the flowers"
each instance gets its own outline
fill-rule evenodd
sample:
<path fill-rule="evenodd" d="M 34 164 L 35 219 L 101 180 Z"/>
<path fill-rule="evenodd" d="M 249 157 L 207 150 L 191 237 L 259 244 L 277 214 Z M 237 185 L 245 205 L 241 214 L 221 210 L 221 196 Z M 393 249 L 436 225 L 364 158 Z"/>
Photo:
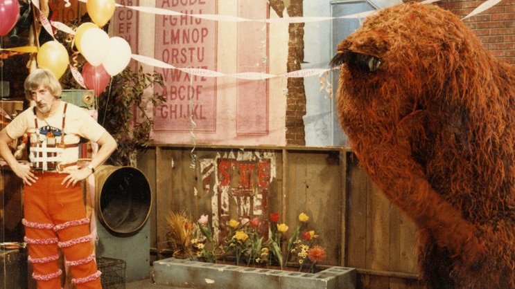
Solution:
<path fill-rule="evenodd" d="M 168 145 L 140 152 L 138 168 L 155 200 L 151 260 L 171 255 L 166 241 L 170 211 L 186 212 L 194 221 L 208 214 L 220 224 L 242 214 L 278 212 L 291 228 L 304 212 L 326 248 L 324 264 L 358 268 L 360 288 L 421 288 L 414 225 L 367 178 L 348 149 Z M 229 197 L 218 196 L 223 194 Z"/>

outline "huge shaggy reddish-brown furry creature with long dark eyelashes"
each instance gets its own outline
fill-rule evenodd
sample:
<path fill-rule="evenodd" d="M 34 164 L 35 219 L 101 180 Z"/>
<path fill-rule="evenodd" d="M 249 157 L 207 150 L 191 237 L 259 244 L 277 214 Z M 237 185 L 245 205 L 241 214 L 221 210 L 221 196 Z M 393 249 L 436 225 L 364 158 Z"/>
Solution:
<path fill-rule="evenodd" d="M 515 76 L 433 5 L 366 19 L 338 46 L 342 128 L 418 228 L 427 288 L 515 288 Z"/>

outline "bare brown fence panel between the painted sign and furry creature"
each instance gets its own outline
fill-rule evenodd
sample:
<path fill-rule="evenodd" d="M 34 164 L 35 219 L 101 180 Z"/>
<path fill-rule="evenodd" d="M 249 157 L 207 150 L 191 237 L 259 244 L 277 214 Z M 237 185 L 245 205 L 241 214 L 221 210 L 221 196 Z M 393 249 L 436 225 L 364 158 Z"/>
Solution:
<path fill-rule="evenodd" d="M 293 233 L 298 216 L 309 216 L 301 232 L 315 230 L 320 237 L 318 243 L 326 249 L 324 264 L 336 265 L 340 256 L 341 232 L 341 187 L 340 187 L 340 153 L 333 151 L 299 153 L 288 152 L 288 212 L 287 220 Z"/>

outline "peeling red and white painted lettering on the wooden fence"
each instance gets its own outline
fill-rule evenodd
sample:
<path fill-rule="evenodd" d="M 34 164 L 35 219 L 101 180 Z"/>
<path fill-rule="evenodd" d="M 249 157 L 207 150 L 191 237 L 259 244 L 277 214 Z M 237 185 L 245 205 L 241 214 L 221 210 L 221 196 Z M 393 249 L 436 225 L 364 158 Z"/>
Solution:
<path fill-rule="evenodd" d="M 200 163 L 204 189 L 215 192 L 211 209 L 216 238 L 225 239 L 231 218 L 241 221 L 257 217 L 260 234 L 267 239 L 268 192 L 275 178 L 275 154 L 245 152 Z"/>

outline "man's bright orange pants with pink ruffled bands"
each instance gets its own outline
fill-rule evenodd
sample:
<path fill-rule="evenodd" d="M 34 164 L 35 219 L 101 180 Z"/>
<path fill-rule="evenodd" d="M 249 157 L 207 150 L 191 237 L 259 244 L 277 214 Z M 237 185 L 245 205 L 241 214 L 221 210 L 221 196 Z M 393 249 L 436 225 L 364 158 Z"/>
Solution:
<path fill-rule="evenodd" d="M 45 172 L 24 187 L 25 241 L 37 288 L 62 288 L 61 248 L 77 289 L 102 288 L 80 185 L 61 185 L 67 174 Z"/>

